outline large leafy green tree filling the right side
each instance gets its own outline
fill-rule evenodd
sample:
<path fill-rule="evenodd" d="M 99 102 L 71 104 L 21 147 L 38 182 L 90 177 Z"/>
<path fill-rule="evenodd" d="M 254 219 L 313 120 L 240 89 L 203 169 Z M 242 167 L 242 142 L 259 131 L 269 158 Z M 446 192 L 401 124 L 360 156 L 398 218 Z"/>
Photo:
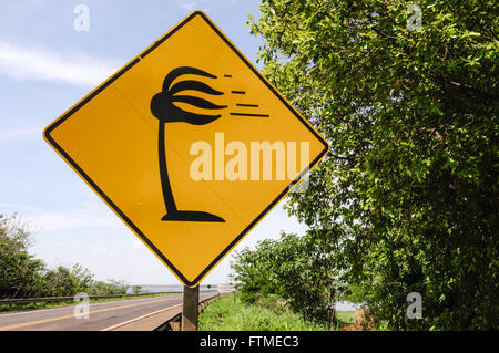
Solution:
<path fill-rule="evenodd" d="M 391 329 L 497 329 L 498 13 L 488 0 L 264 0 L 267 77 L 332 145 L 289 211 Z M 406 295 L 424 299 L 408 320 Z"/>

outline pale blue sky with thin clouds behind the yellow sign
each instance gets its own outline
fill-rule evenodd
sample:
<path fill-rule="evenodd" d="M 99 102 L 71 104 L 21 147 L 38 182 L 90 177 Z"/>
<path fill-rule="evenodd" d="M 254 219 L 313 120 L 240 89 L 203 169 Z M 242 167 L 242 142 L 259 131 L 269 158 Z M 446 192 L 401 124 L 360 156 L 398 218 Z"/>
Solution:
<path fill-rule="evenodd" d="M 77 31 L 78 6 L 89 9 Z M 43 141 L 42 131 L 193 10 L 204 11 L 256 63 L 255 0 L 0 0 L 0 214 L 33 230 L 31 253 L 48 267 L 81 263 L 95 279 L 130 284 L 179 280 Z M 235 249 L 306 227 L 283 201 Z M 203 283 L 227 282 L 232 256 Z"/>

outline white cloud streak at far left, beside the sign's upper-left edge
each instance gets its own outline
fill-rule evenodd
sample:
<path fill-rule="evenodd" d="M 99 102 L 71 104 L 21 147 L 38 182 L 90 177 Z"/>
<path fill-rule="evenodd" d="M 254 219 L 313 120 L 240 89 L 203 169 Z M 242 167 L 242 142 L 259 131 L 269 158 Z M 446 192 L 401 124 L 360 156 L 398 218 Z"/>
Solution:
<path fill-rule="evenodd" d="M 103 82 L 121 64 L 88 54 L 59 54 L 47 49 L 23 48 L 0 39 L 0 75 L 19 81 L 59 81 L 80 86 Z"/>

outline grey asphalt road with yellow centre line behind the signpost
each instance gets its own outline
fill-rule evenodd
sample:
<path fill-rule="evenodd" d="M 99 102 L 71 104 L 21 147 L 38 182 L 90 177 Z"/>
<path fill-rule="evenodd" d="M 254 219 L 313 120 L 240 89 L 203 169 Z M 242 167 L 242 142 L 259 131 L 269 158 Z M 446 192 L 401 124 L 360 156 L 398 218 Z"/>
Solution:
<path fill-rule="evenodd" d="M 200 293 L 200 301 L 213 293 Z M 75 319 L 75 305 L 0 313 L 0 331 L 100 331 L 177 307 L 182 294 L 90 303 L 89 319 Z"/>

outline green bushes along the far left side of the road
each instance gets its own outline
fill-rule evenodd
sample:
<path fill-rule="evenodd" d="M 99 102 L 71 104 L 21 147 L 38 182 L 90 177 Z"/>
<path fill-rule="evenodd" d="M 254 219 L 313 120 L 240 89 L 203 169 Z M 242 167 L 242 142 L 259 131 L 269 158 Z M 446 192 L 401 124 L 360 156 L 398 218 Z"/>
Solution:
<path fill-rule="evenodd" d="M 72 268 L 47 268 L 42 260 L 29 253 L 31 242 L 29 225 L 22 224 L 16 216 L 0 215 L 0 299 L 73 297 L 79 292 L 89 295 L 126 293 L 129 285 L 125 282 L 96 281 L 88 269 L 78 263 Z M 133 292 L 140 290 L 133 288 Z M 0 307 L 0 310 L 60 304 L 7 305 Z"/>

